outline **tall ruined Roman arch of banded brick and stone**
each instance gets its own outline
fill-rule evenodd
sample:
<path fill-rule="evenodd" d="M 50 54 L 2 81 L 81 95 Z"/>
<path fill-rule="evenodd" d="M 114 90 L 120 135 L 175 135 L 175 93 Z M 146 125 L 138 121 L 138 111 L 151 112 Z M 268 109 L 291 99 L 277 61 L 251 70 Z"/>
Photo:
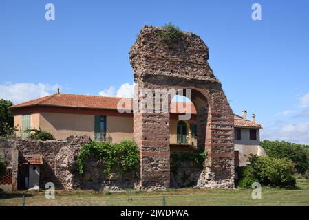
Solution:
<path fill-rule="evenodd" d="M 206 148 L 209 155 L 198 186 L 233 188 L 233 112 L 207 62 L 208 47 L 199 36 L 187 32 L 181 40 L 167 43 L 160 38 L 162 31 L 143 27 L 130 50 L 136 83 L 134 140 L 140 149 L 140 188 L 168 188 L 170 184 L 169 111 L 158 111 L 147 102 L 158 101 L 158 89 L 182 89 L 183 96 L 191 89 L 198 114 L 198 147 Z M 167 100 L 167 109 L 173 95 L 160 97 Z"/>

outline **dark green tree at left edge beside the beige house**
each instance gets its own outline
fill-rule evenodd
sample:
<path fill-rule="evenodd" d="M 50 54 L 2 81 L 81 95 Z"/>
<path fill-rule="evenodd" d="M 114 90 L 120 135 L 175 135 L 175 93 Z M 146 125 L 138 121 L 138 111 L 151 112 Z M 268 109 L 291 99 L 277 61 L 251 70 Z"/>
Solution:
<path fill-rule="evenodd" d="M 0 100 L 0 136 L 10 135 L 14 131 L 14 115 L 8 109 L 12 105 L 8 100 Z"/>

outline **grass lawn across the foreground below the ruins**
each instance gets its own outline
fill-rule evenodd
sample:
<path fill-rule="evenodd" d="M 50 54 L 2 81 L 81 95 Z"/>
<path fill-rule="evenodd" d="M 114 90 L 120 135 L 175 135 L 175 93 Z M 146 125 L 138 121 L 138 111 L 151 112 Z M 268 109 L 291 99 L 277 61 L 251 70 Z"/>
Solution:
<path fill-rule="evenodd" d="M 93 192 L 56 191 L 55 199 L 45 192 L 0 194 L 0 206 L 309 206 L 309 180 L 297 179 L 296 188 L 262 188 L 262 199 L 252 199 L 251 189 L 182 188 L 164 191 Z"/>

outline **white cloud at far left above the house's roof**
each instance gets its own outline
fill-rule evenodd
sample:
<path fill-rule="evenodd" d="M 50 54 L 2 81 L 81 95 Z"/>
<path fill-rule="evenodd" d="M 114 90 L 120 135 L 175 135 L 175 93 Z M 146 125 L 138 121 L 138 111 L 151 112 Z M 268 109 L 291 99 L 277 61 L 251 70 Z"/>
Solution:
<path fill-rule="evenodd" d="M 56 93 L 58 87 L 60 86 L 45 83 L 3 83 L 0 84 L 0 98 L 18 104 Z"/>

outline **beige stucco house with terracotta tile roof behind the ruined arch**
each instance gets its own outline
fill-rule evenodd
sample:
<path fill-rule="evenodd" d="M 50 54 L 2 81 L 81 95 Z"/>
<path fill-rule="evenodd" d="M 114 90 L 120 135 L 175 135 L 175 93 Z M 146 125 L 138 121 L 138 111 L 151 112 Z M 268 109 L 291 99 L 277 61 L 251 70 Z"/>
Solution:
<path fill-rule="evenodd" d="M 58 93 L 14 105 L 10 110 L 14 113 L 14 126 L 19 129 L 17 134 L 23 138 L 27 137 L 26 129 L 41 128 L 52 133 L 56 140 L 65 140 L 70 135 L 88 135 L 92 140 L 116 143 L 133 140 L 133 111 L 130 108 L 125 113 L 119 112 L 120 100 L 122 98 Z M 126 102 L 132 103 L 132 100 L 127 98 Z M 178 120 L 178 115 L 182 114 L 178 104 L 171 103 L 171 151 L 191 151 L 197 145 L 196 111 L 191 104 L 191 118 Z M 251 153 L 265 155 L 259 146 L 262 126 L 255 122 L 255 115 L 248 120 L 246 111 L 234 118 L 235 157 L 239 156 L 239 166 L 244 166 Z"/>

